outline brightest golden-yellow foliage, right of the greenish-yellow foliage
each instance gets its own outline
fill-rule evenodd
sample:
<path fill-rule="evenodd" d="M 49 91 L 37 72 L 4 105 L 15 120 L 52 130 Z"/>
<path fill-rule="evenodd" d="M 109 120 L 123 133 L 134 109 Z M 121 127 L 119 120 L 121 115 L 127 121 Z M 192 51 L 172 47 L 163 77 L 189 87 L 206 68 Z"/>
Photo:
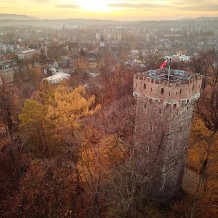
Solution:
<path fill-rule="evenodd" d="M 78 129 L 81 118 L 91 116 L 100 109 L 100 105 L 93 107 L 94 96 L 89 99 L 84 96 L 85 88 L 83 86 L 75 88 L 72 92 L 60 86 L 54 93 L 55 104 L 48 106 L 46 119 L 56 128 Z"/>

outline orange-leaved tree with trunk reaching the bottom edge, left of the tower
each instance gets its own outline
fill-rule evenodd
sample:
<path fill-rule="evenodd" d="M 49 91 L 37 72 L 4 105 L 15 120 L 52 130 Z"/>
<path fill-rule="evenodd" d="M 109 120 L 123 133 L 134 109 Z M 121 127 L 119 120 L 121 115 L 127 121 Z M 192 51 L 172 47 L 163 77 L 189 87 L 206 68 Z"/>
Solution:
<path fill-rule="evenodd" d="M 76 163 L 86 193 L 83 199 L 91 217 L 105 217 L 114 199 L 113 195 L 108 197 L 109 178 L 125 158 L 126 148 L 116 135 L 105 135 L 94 126 L 86 126 L 84 133 Z"/>

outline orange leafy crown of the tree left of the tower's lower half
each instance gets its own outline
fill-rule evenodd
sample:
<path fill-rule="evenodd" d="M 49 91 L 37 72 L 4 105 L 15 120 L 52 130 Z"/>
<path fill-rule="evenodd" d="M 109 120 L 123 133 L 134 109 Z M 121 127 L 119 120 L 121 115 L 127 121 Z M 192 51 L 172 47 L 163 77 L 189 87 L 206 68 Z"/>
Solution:
<path fill-rule="evenodd" d="M 113 166 L 125 159 L 126 153 L 123 142 L 116 135 L 106 136 L 98 143 L 90 143 L 86 138 L 80 146 L 77 163 L 81 179 L 90 182 L 99 175 L 107 178 Z"/>

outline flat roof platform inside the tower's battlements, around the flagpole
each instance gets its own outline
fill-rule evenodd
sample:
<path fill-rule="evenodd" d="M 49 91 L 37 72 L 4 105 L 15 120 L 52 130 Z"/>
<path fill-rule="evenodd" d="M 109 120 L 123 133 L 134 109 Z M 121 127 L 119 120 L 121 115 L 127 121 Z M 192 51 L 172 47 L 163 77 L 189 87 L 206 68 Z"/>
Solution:
<path fill-rule="evenodd" d="M 169 81 L 170 83 L 177 83 L 180 81 L 189 81 L 193 76 L 199 74 L 187 72 L 184 70 L 170 70 L 170 74 L 167 68 L 158 70 L 148 70 L 147 72 L 138 73 L 137 76 L 150 77 L 151 79 L 159 81 Z"/>

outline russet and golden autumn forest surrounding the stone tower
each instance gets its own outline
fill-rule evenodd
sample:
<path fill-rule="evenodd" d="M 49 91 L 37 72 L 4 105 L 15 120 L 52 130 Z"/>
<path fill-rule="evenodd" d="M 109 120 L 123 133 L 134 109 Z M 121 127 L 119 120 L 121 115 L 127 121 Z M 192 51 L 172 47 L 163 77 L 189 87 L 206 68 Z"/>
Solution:
<path fill-rule="evenodd" d="M 149 56 L 147 69 L 162 60 Z M 0 86 L 1 217 L 215 217 L 218 214 L 218 55 L 202 52 L 174 69 L 203 76 L 189 137 L 186 178 L 175 198 L 147 198 L 143 155 L 135 155 L 134 73 L 123 65 L 97 77 L 77 70 L 41 82 L 34 61 Z M 190 174 L 192 175 L 192 174 Z"/>

